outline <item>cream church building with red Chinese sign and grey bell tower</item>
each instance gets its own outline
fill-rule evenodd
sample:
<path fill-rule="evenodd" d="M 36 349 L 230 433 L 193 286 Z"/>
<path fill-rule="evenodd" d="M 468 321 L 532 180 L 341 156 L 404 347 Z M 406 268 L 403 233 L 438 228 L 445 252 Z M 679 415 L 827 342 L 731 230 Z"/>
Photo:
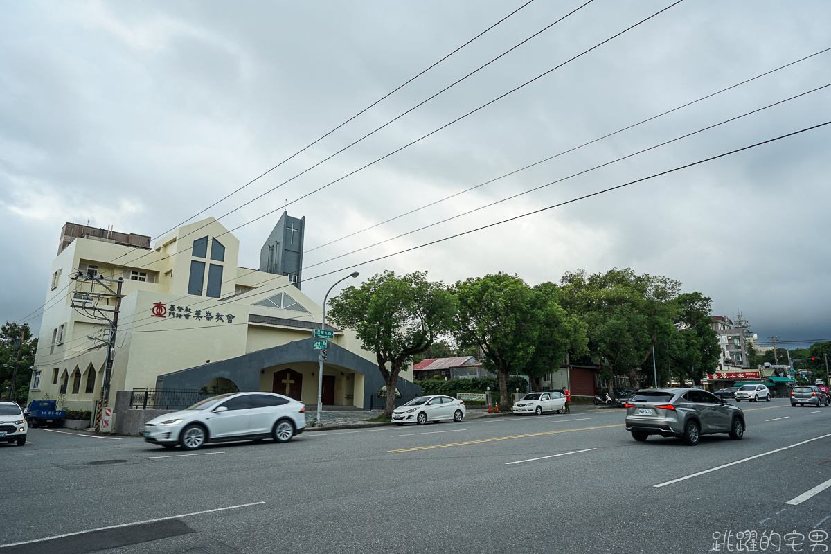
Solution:
<path fill-rule="evenodd" d="M 283 213 L 258 267 L 238 265 L 239 241 L 214 218 L 150 237 L 66 223 L 42 319 L 30 399 L 93 409 L 104 378 L 112 297 L 77 272 L 122 282 L 111 403 L 119 390 L 261 390 L 317 404 L 312 331 L 321 306 L 300 290 L 305 218 Z M 333 281 L 337 278 L 333 278 Z M 110 287 L 117 283 L 107 282 Z M 73 307 L 74 306 L 74 307 Z M 323 404 L 369 408 L 384 386 L 375 355 L 353 331 L 334 339 L 323 365 Z M 417 395 L 412 371 L 402 395 Z M 112 404 L 111 404 L 112 405 Z"/>

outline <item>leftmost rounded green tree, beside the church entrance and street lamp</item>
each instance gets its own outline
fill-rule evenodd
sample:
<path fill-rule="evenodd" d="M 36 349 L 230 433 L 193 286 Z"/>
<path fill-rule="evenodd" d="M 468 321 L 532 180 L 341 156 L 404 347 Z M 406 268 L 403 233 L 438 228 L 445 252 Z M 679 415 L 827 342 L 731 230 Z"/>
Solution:
<path fill-rule="evenodd" d="M 396 408 L 401 368 L 450 331 L 453 322 L 453 296 L 444 284 L 426 277 L 426 272 L 396 277 L 386 271 L 329 300 L 332 321 L 354 329 L 363 347 L 376 355 L 386 383 L 386 418 Z"/>

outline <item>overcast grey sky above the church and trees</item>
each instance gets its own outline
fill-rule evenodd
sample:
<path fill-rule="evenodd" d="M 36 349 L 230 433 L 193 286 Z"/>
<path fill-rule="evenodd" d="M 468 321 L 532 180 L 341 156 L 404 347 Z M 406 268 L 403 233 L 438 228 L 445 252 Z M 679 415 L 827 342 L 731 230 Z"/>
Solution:
<path fill-rule="evenodd" d="M 581 6 L 535 0 L 219 205 L 220 218 Z M 41 306 L 63 223 L 154 240 L 317 140 L 524 2 L 0 3 L 0 320 Z M 375 257 L 831 120 L 831 87 L 349 253 L 831 83 L 831 51 L 324 248 L 317 246 L 831 47 L 831 4 L 594 0 L 361 143 L 220 219 L 239 264 L 306 216 L 317 302 Z M 632 267 L 739 309 L 760 339 L 831 339 L 831 125 L 357 267 L 557 282 Z M 344 254 L 348 254 L 343 256 Z M 343 256 L 337 260 L 331 258 Z M 319 265 L 317 265 L 319 264 Z M 360 279 L 360 278 L 359 278 Z M 347 280 L 350 283 L 354 280 Z M 714 314 L 714 315 L 715 315 Z M 40 318 L 30 321 L 39 329 Z"/>

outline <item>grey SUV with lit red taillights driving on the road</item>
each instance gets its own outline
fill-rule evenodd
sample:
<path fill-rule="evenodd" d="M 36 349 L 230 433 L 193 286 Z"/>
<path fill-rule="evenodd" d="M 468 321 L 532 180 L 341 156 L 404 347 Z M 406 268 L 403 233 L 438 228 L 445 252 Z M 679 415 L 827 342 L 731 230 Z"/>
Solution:
<path fill-rule="evenodd" d="M 660 434 L 695 445 L 702 434 L 713 433 L 740 440 L 745 434 L 745 414 L 706 390 L 647 389 L 627 402 L 626 429 L 638 441 Z"/>

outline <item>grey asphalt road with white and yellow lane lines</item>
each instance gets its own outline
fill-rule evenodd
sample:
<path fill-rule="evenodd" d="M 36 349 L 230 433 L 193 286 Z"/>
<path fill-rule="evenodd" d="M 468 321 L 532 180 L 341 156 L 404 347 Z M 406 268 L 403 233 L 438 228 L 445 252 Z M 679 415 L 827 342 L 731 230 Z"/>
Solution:
<path fill-rule="evenodd" d="M 831 488 L 789 501 L 831 484 L 831 408 L 740 407 L 743 440 L 695 447 L 637 443 L 622 409 L 306 433 L 199 455 L 32 429 L 30 444 L 0 445 L 0 554 L 711 552 L 721 532 L 735 552 L 744 531 L 779 533 L 779 550 L 759 552 L 828 552 L 809 537 L 831 534 Z M 786 544 L 799 542 L 792 532 L 801 546 Z"/>

